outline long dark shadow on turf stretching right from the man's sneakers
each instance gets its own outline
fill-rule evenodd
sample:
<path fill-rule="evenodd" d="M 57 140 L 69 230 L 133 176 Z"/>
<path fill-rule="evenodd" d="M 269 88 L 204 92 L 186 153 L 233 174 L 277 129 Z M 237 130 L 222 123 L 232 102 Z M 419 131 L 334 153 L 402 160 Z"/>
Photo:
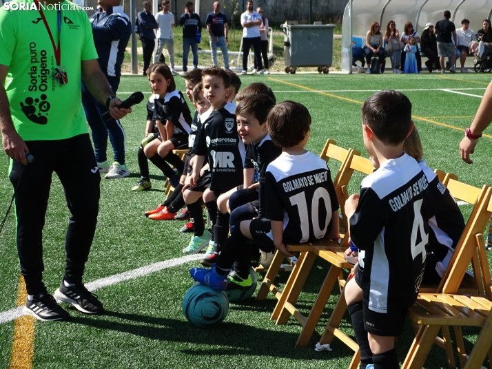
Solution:
<path fill-rule="evenodd" d="M 350 351 L 341 344 L 335 344 L 337 350 L 316 352 L 314 346 L 319 337 L 313 337 L 307 348 L 293 350 L 298 333 L 279 332 L 274 329 L 273 322 L 265 322 L 266 328 L 257 328 L 245 324 L 226 321 L 215 328 L 196 328 L 187 321 L 152 317 L 149 315 L 105 312 L 105 317 L 114 319 L 103 320 L 93 317 L 72 317 L 72 324 L 92 326 L 97 329 L 114 330 L 129 333 L 145 339 L 170 341 L 198 345 L 196 350 L 181 350 L 187 355 L 267 355 L 288 359 L 336 359 L 345 358 Z M 280 328 L 282 329 L 282 328 Z M 240 333 L 235 335 L 234 332 Z M 210 349 L 207 349 L 211 347 Z M 218 347 L 217 346 L 221 346 Z M 231 346 L 234 346 L 232 348 Z"/>

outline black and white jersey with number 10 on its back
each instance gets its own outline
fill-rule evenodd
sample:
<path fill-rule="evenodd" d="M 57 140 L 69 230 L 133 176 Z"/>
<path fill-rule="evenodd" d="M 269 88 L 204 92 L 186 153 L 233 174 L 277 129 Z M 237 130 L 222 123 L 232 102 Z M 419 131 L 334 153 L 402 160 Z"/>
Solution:
<path fill-rule="evenodd" d="M 268 165 L 265 198 L 265 217 L 283 222 L 284 242 L 323 238 L 331 213 L 338 209 L 327 163 L 309 151 L 302 155 L 283 153 Z"/>

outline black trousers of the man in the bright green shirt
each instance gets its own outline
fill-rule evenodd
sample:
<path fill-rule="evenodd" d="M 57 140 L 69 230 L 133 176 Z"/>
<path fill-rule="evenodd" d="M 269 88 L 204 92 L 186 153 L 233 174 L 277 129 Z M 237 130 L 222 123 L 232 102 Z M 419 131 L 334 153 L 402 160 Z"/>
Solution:
<path fill-rule="evenodd" d="M 29 295 L 45 292 L 43 228 L 52 173 L 57 173 L 72 214 L 65 237 L 65 280 L 79 282 L 96 230 L 101 175 L 89 134 L 65 140 L 27 141 L 34 161 L 13 161 L 9 173 L 15 189 L 17 253 Z M 50 224 L 53 226 L 53 224 Z"/>

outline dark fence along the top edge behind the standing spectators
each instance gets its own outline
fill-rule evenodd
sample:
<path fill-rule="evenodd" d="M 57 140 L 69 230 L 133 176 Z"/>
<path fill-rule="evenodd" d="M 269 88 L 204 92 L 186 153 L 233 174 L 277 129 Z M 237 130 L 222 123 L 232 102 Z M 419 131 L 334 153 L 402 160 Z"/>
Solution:
<path fill-rule="evenodd" d="M 1 0 L 0 0 L 1 1 Z M 160 3 L 160 0 L 154 0 Z M 188 0 L 170 0 L 170 11 L 176 15 L 177 20 L 185 12 L 185 3 Z M 207 14 L 212 12 L 215 0 L 200 1 L 200 17 L 205 26 Z M 225 10 L 228 3 L 234 0 L 222 0 L 222 12 L 225 12 L 231 24 L 231 12 Z M 237 0 L 236 0 L 237 1 Z M 195 3 L 195 1 L 193 1 Z M 236 27 L 239 25 L 239 16 L 246 6 L 246 0 L 238 0 L 236 12 Z M 143 10 L 143 0 L 137 0 L 136 8 L 140 12 Z M 125 14 L 130 16 L 130 0 L 122 0 Z M 311 0 L 311 21 L 321 21 L 323 23 L 334 23 L 341 19 L 343 10 L 347 5 L 347 0 Z M 85 6 L 92 6 L 94 10 L 97 7 L 97 0 L 85 0 Z M 244 7 L 243 7 L 244 6 Z M 308 23 L 309 21 L 309 0 L 256 0 L 254 7 L 261 7 L 263 14 L 270 22 L 284 23 L 285 21 L 298 21 L 299 23 Z M 91 15 L 91 14 L 90 14 Z"/>

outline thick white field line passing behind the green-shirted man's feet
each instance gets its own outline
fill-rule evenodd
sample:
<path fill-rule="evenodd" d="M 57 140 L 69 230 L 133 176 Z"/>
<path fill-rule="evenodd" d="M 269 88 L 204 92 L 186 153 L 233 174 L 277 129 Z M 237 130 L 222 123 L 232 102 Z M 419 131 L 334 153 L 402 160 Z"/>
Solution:
<path fill-rule="evenodd" d="M 175 259 L 165 260 L 164 262 L 157 262 L 155 264 L 150 264 L 146 266 L 142 266 L 141 268 L 133 269 L 132 271 L 127 271 L 115 275 L 110 275 L 109 277 L 101 278 L 100 280 L 95 280 L 94 282 L 90 282 L 85 284 L 85 287 L 89 291 L 96 291 L 99 288 L 111 286 L 112 284 L 116 284 L 119 282 L 133 280 L 137 277 L 143 277 L 144 275 L 154 273 L 157 271 L 162 271 L 166 268 L 172 268 L 173 266 L 178 266 L 181 264 L 185 264 L 187 262 L 193 262 L 195 260 L 199 260 L 203 257 L 203 254 L 192 254 L 186 255 L 183 257 L 176 257 Z M 7 311 L 3 311 L 0 313 L 0 324 L 7 323 L 8 321 L 15 320 L 23 315 L 22 312 L 23 306 L 19 306 L 18 308 L 12 308 Z"/>

